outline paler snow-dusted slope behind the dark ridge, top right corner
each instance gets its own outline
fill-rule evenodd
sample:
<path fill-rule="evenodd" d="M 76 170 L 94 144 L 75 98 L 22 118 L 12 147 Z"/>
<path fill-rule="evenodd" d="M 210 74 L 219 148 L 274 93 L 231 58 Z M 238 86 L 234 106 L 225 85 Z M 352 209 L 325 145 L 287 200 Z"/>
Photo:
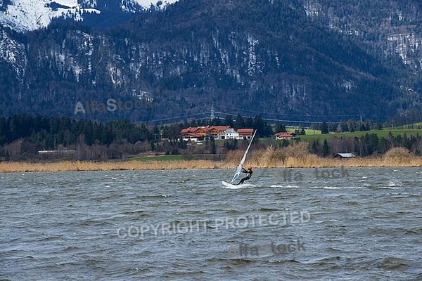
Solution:
<path fill-rule="evenodd" d="M 420 1 L 302 1 L 310 18 L 344 34 L 363 39 L 381 54 L 402 58 L 422 70 Z"/>

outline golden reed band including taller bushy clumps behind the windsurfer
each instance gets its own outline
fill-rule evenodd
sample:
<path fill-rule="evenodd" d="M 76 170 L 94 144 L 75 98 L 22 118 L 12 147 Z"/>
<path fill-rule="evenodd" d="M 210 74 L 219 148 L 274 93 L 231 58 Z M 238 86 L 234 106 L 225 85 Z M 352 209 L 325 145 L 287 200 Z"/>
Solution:
<path fill-rule="evenodd" d="M 243 156 L 242 151 L 229 152 L 224 161 L 182 160 L 138 162 L 84 162 L 66 161 L 49 163 L 0 162 L 1 173 L 32 171 L 116 171 L 162 169 L 234 169 Z M 322 158 L 307 152 L 307 145 L 299 143 L 287 148 L 266 148 L 248 155 L 245 165 L 254 168 L 313 168 L 313 167 L 381 167 L 422 166 L 422 157 L 416 157 L 405 148 L 392 148 L 383 157 L 357 157 L 352 159 Z"/>

